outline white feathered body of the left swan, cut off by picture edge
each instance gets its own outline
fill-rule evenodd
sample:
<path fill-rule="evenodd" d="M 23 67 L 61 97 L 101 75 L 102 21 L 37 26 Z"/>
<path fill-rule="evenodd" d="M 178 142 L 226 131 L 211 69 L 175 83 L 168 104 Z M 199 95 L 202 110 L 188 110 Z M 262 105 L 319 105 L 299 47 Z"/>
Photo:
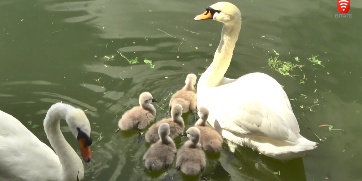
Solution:
<path fill-rule="evenodd" d="M 58 181 L 58 156 L 12 115 L 0 111 L 0 180 Z"/>

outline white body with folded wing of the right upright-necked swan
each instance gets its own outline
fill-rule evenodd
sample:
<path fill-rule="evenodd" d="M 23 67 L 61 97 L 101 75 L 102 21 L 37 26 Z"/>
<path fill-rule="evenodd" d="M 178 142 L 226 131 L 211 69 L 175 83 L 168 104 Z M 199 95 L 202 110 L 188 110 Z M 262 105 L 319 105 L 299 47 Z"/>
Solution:
<path fill-rule="evenodd" d="M 208 107 L 224 130 L 276 140 L 294 140 L 290 133 L 299 133 L 286 93 L 264 73 L 249 73 L 231 83 L 199 90 L 198 106 Z"/>

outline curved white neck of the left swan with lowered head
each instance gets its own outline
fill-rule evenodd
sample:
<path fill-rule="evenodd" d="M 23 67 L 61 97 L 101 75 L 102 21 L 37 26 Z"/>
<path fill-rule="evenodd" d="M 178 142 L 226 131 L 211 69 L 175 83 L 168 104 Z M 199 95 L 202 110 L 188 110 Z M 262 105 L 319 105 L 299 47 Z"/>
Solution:
<path fill-rule="evenodd" d="M 44 119 L 45 134 L 62 164 L 64 181 L 76 178 L 80 164 L 83 165 L 77 153 L 64 138 L 59 125 L 60 119 L 66 119 L 67 114 L 74 109 L 68 104 L 57 103 L 51 106 Z"/>

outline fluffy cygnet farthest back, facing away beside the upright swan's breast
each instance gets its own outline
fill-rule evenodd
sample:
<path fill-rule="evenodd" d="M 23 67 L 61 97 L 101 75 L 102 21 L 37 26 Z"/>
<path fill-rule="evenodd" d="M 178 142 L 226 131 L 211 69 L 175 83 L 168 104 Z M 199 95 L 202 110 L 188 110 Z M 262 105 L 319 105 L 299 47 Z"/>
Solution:
<path fill-rule="evenodd" d="M 185 80 L 185 86 L 178 90 L 176 93 L 173 94 L 173 96 L 170 99 L 170 110 L 172 109 L 172 106 L 175 104 L 180 104 L 184 110 L 183 113 L 186 113 L 190 111 L 195 115 L 196 113 L 196 75 L 193 73 L 190 73 L 186 76 Z"/>

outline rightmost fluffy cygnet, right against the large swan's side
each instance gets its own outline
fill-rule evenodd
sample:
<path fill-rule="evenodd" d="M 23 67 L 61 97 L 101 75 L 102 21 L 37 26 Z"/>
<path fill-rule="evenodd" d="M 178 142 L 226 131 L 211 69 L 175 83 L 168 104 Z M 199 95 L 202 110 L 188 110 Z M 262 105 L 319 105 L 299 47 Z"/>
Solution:
<path fill-rule="evenodd" d="M 198 108 L 197 114 L 200 119 L 195 123 L 195 127 L 200 130 L 200 141 L 201 147 L 205 151 L 219 152 L 222 148 L 223 138 L 221 133 L 216 131 L 213 127 L 206 125 L 207 118 L 209 117 L 209 109 L 204 106 Z M 215 120 L 215 128 L 221 130 L 219 122 Z"/>

